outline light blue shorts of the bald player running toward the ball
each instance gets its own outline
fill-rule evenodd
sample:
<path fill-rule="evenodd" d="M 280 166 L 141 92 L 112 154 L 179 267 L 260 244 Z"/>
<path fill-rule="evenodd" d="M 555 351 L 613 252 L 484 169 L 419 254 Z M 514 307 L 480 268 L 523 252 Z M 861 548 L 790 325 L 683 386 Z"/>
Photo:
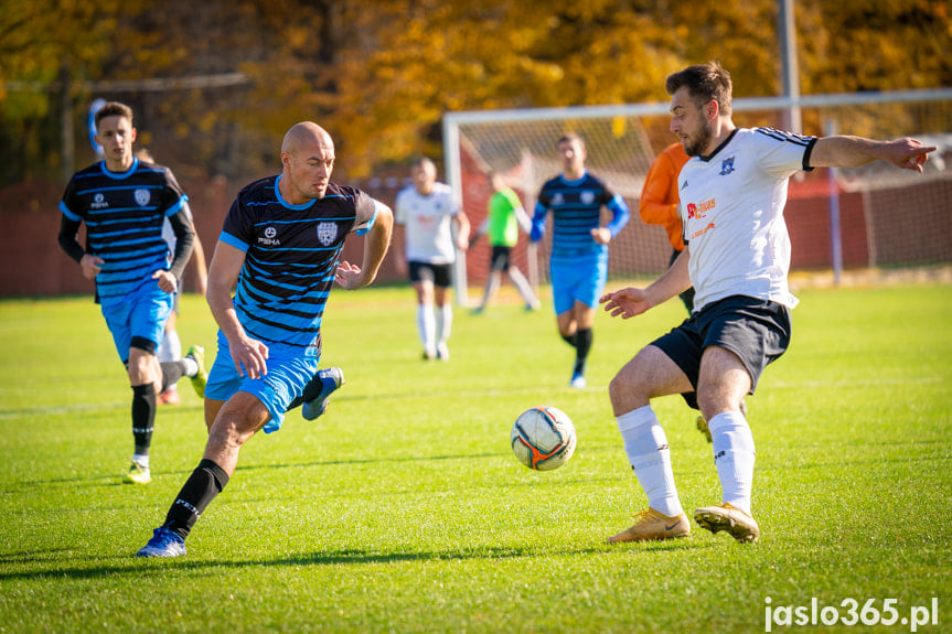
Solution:
<path fill-rule="evenodd" d="M 208 373 L 205 398 L 228 400 L 237 391 L 250 394 L 268 408 L 271 418 L 265 423 L 265 433 L 271 433 L 281 429 L 285 411 L 295 398 L 303 394 L 304 386 L 317 374 L 320 361 L 319 356 L 291 356 L 269 348 L 265 362 L 268 374 L 248 378 L 246 372 L 240 376 L 235 369 L 228 340 L 218 331 L 218 353 Z"/>

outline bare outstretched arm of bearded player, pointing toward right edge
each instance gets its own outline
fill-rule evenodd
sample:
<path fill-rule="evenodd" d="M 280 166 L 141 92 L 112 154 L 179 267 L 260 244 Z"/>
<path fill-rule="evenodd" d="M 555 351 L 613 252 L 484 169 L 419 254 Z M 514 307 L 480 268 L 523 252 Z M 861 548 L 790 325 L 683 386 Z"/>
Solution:
<path fill-rule="evenodd" d="M 937 148 L 926 147 L 906 137 L 895 141 L 876 141 L 863 137 L 824 137 L 817 139 L 810 153 L 813 168 L 858 168 L 875 160 L 892 163 L 903 170 L 922 171 L 922 165 Z"/>

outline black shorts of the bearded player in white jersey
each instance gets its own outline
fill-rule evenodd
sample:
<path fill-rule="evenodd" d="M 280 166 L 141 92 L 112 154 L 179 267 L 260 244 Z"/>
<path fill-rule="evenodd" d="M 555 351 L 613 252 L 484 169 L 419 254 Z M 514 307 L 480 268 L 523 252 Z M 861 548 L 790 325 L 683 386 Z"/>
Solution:
<path fill-rule="evenodd" d="M 790 345 L 790 309 L 744 295 L 724 298 L 704 307 L 652 345 L 677 364 L 695 389 L 704 350 L 712 345 L 727 348 L 747 368 L 753 394 L 763 369 Z M 695 393 L 682 396 L 687 405 L 698 409 Z"/>

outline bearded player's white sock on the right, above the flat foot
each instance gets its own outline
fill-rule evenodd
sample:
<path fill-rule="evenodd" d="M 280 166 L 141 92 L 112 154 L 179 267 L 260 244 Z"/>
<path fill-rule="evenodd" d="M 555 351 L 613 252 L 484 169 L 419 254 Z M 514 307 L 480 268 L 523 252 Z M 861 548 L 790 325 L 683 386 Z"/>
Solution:
<path fill-rule="evenodd" d="M 707 427 L 724 491 L 723 502 L 750 515 L 756 453 L 750 426 L 739 411 L 724 411 L 707 421 Z"/>

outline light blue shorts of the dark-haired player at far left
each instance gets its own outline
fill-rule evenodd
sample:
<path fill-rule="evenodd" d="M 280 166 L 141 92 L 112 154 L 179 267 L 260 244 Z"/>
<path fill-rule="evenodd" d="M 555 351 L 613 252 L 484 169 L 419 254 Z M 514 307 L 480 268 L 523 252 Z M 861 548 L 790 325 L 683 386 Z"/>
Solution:
<path fill-rule="evenodd" d="M 167 293 L 156 280 L 149 280 L 131 293 L 100 298 L 99 308 L 122 363 L 129 361 L 129 346 L 133 339 L 147 347 L 146 342 L 151 342 L 153 346 L 149 352 L 154 354 L 162 343 L 174 299 L 175 293 Z"/>

